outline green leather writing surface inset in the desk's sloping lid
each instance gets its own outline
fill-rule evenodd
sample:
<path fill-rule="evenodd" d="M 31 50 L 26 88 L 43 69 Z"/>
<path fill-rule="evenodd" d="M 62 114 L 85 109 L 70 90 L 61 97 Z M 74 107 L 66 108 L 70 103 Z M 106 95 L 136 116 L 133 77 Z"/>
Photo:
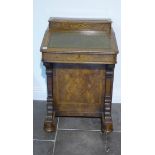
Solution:
<path fill-rule="evenodd" d="M 104 32 L 53 32 L 48 48 L 110 49 L 110 37 Z"/>

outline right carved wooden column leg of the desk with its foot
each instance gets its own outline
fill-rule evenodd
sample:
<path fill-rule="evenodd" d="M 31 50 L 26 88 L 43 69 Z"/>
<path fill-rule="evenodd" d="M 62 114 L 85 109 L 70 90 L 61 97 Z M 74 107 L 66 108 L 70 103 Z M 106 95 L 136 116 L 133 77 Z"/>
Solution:
<path fill-rule="evenodd" d="M 104 97 L 104 113 L 102 115 L 102 131 L 110 133 L 113 130 L 111 116 L 111 102 L 113 90 L 113 77 L 115 65 L 106 65 L 105 68 L 105 97 Z"/>

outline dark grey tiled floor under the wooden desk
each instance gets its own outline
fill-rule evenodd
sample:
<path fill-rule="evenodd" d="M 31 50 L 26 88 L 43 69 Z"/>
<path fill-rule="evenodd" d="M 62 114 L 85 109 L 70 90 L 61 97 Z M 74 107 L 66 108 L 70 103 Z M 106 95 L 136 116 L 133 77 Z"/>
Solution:
<path fill-rule="evenodd" d="M 121 104 L 112 104 L 114 131 L 107 137 L 106 152 L 99 118 L 58 117 L 57 131 L 46 133 L 46 102 L 33 103 L 33 155 L 121 155 Z"/>

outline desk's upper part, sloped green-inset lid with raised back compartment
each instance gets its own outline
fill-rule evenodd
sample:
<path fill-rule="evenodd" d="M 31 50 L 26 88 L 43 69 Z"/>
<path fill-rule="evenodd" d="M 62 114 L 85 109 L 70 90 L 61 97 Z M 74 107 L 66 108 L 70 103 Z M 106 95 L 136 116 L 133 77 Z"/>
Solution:
<path fill-rule="evenodd" d="M 117 54 L 118 48 L 110 20 L 50 18 L 41 51 Z"/>

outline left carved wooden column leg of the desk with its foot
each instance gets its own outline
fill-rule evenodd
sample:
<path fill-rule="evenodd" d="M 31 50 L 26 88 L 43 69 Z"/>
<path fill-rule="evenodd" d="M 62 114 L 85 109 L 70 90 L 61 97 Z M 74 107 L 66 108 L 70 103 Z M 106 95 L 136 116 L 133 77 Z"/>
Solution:
<path fill-rule="evenodd" d="M 44 130 L 47 132 L 54 132 L 55 125 L 55 111 L 53 108 L 53 64 L 44 63 L 46 67 L 47 76 L 47 114 L 44 121 Z"/>

